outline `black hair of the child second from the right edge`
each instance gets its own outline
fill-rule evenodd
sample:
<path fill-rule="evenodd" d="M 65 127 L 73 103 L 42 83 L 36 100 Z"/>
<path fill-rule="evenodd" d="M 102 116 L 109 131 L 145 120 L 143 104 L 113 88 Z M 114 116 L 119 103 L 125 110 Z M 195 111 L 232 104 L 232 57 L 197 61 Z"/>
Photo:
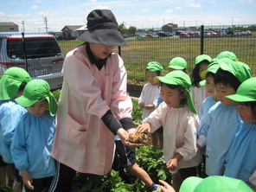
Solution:
<path fill-rule="evenodd" d="M 231 74 L 228 71 L 224 71 L 221 68 L 219 68 L 214 75 L 214 84 L 217 85 L 219 83 L 221 83 L 223 86 L 231 86 L 234 88 L 235 92 L 241 84 L 240 80 L 238 80 L 234 74 Z"/>

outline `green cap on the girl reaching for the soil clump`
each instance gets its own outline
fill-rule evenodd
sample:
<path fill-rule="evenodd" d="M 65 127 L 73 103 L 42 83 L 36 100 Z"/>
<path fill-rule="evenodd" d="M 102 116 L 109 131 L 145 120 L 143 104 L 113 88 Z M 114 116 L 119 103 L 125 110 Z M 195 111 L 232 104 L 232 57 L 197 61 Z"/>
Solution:
<path fill-rule="evenodd" d="M 188 74 L 185 74 L 180 70 L 176 70 L 170 72 L 169 74 L 166 74 L 164 77 L 157 76 L 154 78 L 154 80 L 157 82 L 161 81 L 169 85 L 182 86 L 187 91 L 187 104 L 190 111 L 196 113 L 196 109 L 192 101 L 192 96 L 189 89 L 192 83 Z"/>

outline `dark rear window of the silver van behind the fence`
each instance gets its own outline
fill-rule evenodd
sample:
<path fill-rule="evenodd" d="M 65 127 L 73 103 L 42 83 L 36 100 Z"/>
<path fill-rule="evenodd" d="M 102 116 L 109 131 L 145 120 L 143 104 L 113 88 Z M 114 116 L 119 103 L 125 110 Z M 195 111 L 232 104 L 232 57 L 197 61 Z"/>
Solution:
<path fill-rule="evenodd" d="M 52 37 L 25 38 L 27 59 L 61 55 L 61 48 Z M 24 59 L 21 38 L 7 38 L 7 54 L 10 58 Z"/>

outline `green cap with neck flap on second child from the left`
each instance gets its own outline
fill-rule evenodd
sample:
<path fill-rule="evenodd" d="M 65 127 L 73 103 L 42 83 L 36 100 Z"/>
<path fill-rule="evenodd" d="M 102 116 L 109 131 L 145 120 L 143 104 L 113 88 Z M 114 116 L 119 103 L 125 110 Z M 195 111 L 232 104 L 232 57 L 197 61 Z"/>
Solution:
<path fill-rule="evenodd" d="M 21 106 L 33 106 L 40 99 L 47 99 L 49 111 L 52 116 L 56 113 L 57 102 L 50 92 L 50 86 L 46 80 L 31 80 L 24 89 L 21 97 L 16 98 L 16 102 Z"/>

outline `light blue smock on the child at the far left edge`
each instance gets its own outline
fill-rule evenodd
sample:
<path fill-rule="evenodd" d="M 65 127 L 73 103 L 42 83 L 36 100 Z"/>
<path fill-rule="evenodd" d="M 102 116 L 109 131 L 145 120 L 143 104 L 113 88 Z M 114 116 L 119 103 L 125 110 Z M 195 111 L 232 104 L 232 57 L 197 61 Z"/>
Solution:
<path fill-rule="evenodd" d="M 0 106 L 0 150 L 5 163 L 13 163 L 10 155 L 10 144 L 22 115 L 27 110 L 14 100 L 7 100 Z"/>

